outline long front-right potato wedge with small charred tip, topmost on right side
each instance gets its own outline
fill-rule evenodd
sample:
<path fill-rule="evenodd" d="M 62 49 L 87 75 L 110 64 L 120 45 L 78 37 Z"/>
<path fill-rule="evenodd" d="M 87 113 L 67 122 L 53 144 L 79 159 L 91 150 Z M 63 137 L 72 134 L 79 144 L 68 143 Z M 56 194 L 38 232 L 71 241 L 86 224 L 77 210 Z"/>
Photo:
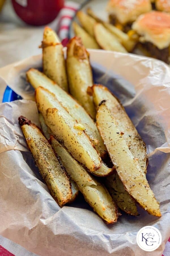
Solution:
<path fill-rule="evenodd" d="M 97 128 L 124 187 L 148 213 L 160 217 L 159 203 L 156 201 L 137 159 L 130 152 L 120 133 L 116 119 L 111 115 L 105 100 L 99 104 L 96 119 Z"/>

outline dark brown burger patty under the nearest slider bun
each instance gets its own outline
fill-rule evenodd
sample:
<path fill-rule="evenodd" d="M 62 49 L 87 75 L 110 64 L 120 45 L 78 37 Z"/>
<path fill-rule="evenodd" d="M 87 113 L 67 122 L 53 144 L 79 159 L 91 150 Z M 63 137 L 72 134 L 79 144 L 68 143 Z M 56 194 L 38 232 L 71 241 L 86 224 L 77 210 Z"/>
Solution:
<path fill-rule="evenodd" d="M 169 47 L 160 50 L 158 47 L 150 42 L 145 42 L 142 45 L 147 51 L 149 51 L 152 57 L 160 59 L 165 63 L 169 64 Z"/>

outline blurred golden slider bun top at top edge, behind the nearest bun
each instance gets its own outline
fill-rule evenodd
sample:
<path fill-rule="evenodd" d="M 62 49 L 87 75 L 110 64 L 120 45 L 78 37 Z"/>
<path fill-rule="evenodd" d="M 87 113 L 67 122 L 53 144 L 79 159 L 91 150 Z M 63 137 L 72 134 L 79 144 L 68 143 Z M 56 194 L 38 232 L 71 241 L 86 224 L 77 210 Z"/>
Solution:
<path fill-rule="evenodd" d="M 109 14 L 115 15 L 122 24 L 133 22 L 151 9 L 150 0 L 110 0 L 107 4 Z"/>

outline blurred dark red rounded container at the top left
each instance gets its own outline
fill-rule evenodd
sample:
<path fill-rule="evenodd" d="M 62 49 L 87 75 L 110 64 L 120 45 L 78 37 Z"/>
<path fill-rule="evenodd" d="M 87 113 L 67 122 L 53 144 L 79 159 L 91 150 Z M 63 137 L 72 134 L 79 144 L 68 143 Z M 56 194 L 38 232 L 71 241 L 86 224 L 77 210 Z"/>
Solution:
<path fill-rule="evenodd" d="M 34 26 L 52 22 L 64 6 L 64 0 L 12 0 L 16 14 Z"/>

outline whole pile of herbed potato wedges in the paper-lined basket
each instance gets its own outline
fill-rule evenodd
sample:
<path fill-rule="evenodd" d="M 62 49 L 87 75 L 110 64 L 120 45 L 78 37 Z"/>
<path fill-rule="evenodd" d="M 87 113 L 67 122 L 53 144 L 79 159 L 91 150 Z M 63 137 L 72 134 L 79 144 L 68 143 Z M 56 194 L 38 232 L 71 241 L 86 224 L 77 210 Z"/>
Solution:
<path fill-rule="evenodd" d="M 62 207 L 80 191 L 106 223 L 116 222 L 120 210 L 139 215 L 136 203 L 161 216 L 146 180 L 145 143 L 119 100 L 93 84 L 82 40 L 69 41 L 65 60 L 58 36 L 46 27 L 41 47 L 43 73 L 27 71 L 41 128 L 23 116 L 19 124 L 52 197 Z"/>

